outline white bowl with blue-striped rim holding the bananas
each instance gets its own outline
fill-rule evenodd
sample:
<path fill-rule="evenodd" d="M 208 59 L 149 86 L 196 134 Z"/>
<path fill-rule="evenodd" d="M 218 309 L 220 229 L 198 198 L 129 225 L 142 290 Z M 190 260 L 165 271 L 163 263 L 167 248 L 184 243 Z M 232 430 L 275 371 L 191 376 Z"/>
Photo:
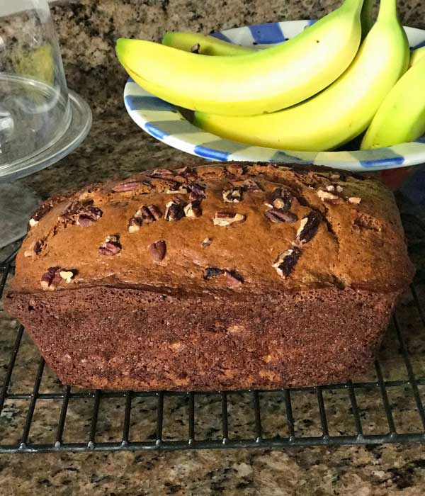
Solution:
<path fill-rule="evenodd" d="M 214 36 L 239 45 L 270 45 L 293 38 L 312 23 L 314 21 L 257 24 L 225 30 Z M 425 45 L 425 30 L 405 29 L 412 48 Z M 132 79 L 128 79 L 125 85 L 124 101 L 132 120 L 149 135 L 171 147 L 205 159 L 312 163 L 350 171 L 378 171 L 425 162 L 425 136 L 415 142 L 377 150 L 317 153 L 276 150 L 249 146 L 205 133 L 189 123 L 174 105 L 149 94 Z"/>

